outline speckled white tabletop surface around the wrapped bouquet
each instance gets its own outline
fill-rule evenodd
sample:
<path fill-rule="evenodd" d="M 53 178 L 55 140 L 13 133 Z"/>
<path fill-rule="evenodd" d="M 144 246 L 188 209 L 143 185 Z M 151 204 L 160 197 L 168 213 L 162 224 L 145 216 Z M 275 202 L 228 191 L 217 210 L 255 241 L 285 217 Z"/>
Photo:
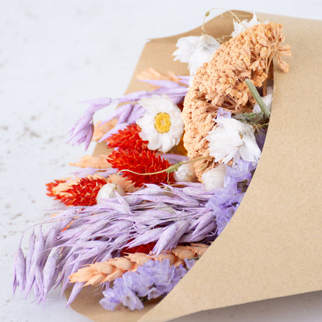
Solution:
<path fill-rule="evenodd" d="M 78 102 L 123 94 L 147 38 L 193 29 L 214 6 L 322 19 L 319 0 L 10 0 L 0 10 L 0 321 L 89 321 L 59 290 L 37 306 L 11 293 L 20 236 L 55 207 L 45 183 L 84 155 L 65 144 Z M 90 146 L 88 154 L 92 153 Z M 24 246 L 25 247 L 25 246 Z M 214 290 L 216 291 L 216 290 Z M 176 321 L 322 321 L 322 293 L 239 305 Z"/>

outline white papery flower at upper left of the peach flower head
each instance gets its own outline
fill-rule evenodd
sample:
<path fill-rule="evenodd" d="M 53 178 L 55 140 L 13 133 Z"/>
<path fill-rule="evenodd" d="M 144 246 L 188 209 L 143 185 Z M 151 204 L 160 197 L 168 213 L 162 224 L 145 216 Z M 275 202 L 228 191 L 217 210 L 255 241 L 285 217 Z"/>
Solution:
<path fill-rule="evenodd" d="M 220 46 L 221 43 L 207 34 L 179 38 L 176 43 L 178 49 L 174 52 L 174 56 L 176 56 L 174 60 L 188 62 L 190 75 L 193 76 L 199 66 L 204 62 L 209 62 Z"/>

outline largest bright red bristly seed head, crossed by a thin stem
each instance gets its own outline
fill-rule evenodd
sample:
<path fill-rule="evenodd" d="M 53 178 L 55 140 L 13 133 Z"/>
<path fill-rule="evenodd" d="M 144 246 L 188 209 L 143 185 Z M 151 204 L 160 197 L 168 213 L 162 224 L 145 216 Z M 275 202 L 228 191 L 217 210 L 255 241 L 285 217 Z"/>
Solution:
<path fill-rule="evenodd" d="M 144 183 L 174 183 L 173 174 L 162 172 L 160 174 L 151 174 L 147 176 L 140 176 L 139 174 L 148 174 L 151 172 L 159 172 L 170 167 L 167 160 L 162 159 L 160 155 L 150 150 L 121 150 L 113 151 L 107 159 L 114 169 L 131 170 L 138 174 L 131 172 L 123 172 L 122 175 L 130 179 L 134 186 L 141 187 Z"/>

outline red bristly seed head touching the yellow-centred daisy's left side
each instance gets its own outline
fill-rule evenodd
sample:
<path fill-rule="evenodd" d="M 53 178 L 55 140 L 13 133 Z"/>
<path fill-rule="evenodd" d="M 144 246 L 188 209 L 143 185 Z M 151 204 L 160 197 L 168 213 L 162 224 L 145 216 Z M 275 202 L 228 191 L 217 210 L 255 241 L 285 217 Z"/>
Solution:
<path fill-rule="evenodd" d="M 107 146 L 109 148 L 131 149 L 139 152 L 146 150 L 148 141 L 143 141 L 139 136 L 139 132 L 141 132 L 139 125 L 127 125 L 124 130 L 119 130 L 118 133 L 109 137 Z"/>

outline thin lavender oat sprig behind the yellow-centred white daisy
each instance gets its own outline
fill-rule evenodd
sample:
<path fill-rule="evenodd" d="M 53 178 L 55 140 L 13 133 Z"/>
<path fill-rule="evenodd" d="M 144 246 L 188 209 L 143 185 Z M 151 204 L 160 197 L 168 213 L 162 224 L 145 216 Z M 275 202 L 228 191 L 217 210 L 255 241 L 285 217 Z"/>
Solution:
<path fill-rule="evenodd" d="M 186 78 L 182 77 L 182 80 L 183 83 L 185 83 Z M 76 125 L 74 125 L 69 132 L 70 139 L 68 142 L 71 145 L 85 143 L 85 148 L 87 148 L 92 139 L 94 129 L 94 113 L 106 106 L 111 106 L 111 104 L 123 104 L 113 113 L 111 113 L 106 120 L 103 121 L 102 125 L 106 122 L 109 122 L 109 120 L 112 120 L 113 118 L 118 118 L 116 127 L 104 134 L 100 141 L 106 140 L 111 134 L 118 132 L 118 130 L 123 130 L 127 125 L 135 123 L 138 118 L 141 118 L 144 115 L 144 107 L 138 104 L 140 99 L 144 97 L 151 97 L 152 95 L 166 94 L 169 99 L 172 99 L 174 104 L 178 104 L 179 102 L 183 101 L 183 98 L 188 92 L 188 85 L 180 85 L 172 80 L 144 81 L 146 83 L 150 83 L 151 85 L 158 85 L 159 88 L 151 92 L 145 90 L 133 92 L 116 99 L 103 97 L 100 99 L 93 99 L 83 102 L 85 104 L 90 104 L 90 107 L 87 109 L 87 111 L 85 111 L 84 115 L 77 121 Z"/>

